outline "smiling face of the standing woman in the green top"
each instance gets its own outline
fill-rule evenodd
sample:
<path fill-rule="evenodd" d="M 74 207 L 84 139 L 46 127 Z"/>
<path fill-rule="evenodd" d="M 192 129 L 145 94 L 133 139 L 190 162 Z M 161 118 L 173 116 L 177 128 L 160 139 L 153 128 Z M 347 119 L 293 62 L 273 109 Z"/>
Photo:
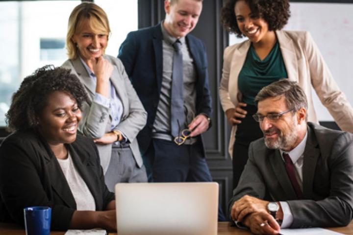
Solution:
<path fill-rule="evenodd" d="M 248 3 L 244 0 L 239 0 L 235 3 L 234 13 L 239 30 L 252 43 L 259 43 L 261 40 L 274 34 L 273 31 L 268 30 L 267 22 L 252 13 Z"/>

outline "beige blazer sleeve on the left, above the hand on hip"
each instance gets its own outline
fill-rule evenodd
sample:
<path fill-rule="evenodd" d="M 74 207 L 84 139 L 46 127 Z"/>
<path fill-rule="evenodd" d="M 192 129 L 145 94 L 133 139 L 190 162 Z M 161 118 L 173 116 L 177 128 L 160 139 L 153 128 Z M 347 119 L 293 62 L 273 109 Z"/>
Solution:
<path fill-rule="evenodd" d="M 235 108 L 236 106 L 236 104 L 233 104 L 232 101 L 230 100 L 229 87 L 228 87 L 232 53 L 233 53 L 233 50 L 230 47 L 227 47 L 224 50 L 224 55 L 223 55 L 223 70 L 222 70 L 221 83 L 219 87 L 219 93 L 220 93 L 220 101 L 224 112 L 226 112 L 228 109 Z M 238 91 L 232 91 L 232 92 L 238 92 Z"/>

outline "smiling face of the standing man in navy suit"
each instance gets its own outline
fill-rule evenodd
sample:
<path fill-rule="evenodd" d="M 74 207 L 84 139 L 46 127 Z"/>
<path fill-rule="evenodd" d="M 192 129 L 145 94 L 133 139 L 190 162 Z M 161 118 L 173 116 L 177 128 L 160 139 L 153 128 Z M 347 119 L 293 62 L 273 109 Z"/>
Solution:
<path fill-rule="evenodd" d="M 170 35 L 181 38 L 190 33 L 199 21 L 202 11 L 200 0 L 177 0 L 171 5 L 169 0 L 164 1 L 166 18 L 163 26 Z"/>

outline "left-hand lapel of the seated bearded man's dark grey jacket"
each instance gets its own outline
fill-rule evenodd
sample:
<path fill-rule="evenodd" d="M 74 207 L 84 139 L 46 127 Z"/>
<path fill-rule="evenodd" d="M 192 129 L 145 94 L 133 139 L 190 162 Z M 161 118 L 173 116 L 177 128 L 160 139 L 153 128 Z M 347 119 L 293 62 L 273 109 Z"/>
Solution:
<path fill-rule="evenodd" d="M 285 198 L 288 198 L 288 200 L 296 200 L 297 195 L 287 175 L 287 171 L 285 169 L 284 162 L 282 160 L 279 150 L 274 150 L 269 156 L 269 158 L 272 168 L 276 174 L 277 180 L 283 188 L 284 193 L 286 194 Z"/>

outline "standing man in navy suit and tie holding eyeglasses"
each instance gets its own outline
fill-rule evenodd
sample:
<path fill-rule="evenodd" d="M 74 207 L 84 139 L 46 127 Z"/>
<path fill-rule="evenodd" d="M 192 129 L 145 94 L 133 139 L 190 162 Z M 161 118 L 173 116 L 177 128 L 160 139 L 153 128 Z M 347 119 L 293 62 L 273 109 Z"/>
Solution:
<path fill-rule="evenodd" d="M 118 55 L 148 112 L 138 143 L 150 181 L 212 181 L 200 135 L 211 125 L 206 50 L 189 34 L 202 0 L 165 0 L 164 9 L 165 19 L 130 32 Z"/>

